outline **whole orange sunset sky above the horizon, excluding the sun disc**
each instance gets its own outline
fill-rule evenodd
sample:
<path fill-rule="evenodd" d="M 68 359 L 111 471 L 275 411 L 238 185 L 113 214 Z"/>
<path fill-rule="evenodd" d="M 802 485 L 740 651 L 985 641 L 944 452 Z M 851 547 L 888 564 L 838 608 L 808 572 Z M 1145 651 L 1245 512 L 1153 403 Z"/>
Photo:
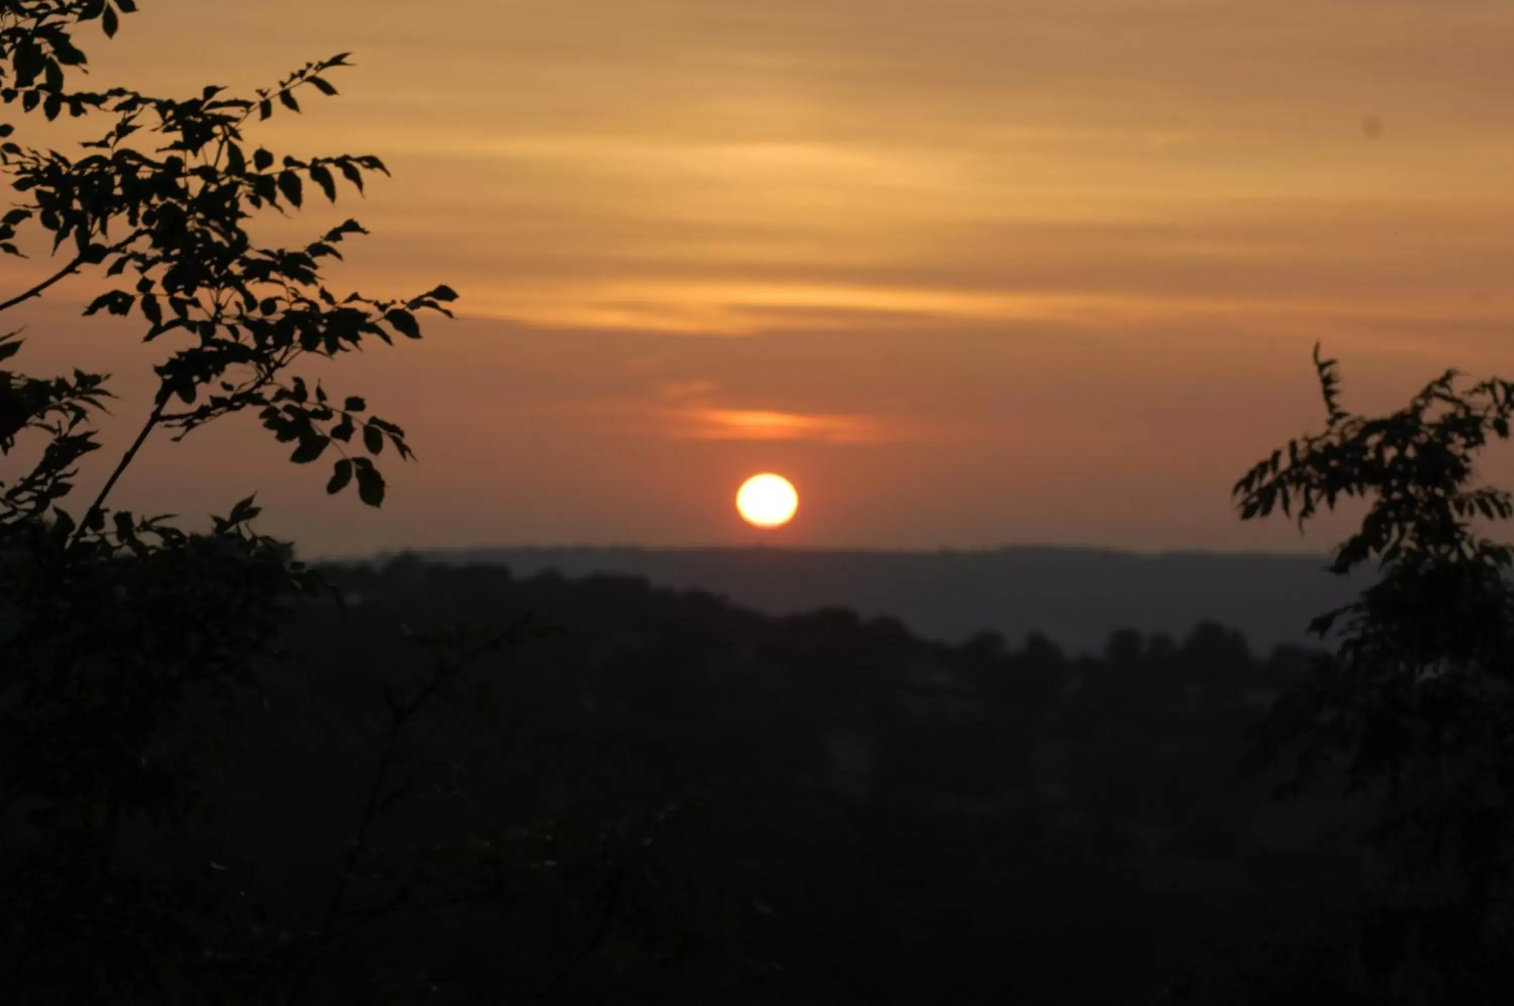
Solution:
<path fill-rule="evenodd" d="M 254 136 L 395 177 L 279 231 L 357 216 L 335 286 L 462 300 L 322 371 L 410 433 L 382 511 L 251 416 L 151 443 L 123 505 L 257 490 L 316 555 L 1325 548 L 1228 501 L 1319 425 L 1316 340 L 1355 408 L 1514 377 L 1508 0 L 139 6 L 86 29 L 98 85 L 350 50 L 341 97 Z M 151 356 L 74 318 L 92 292 L 27 309 L 18 363 L 115 371 L 135 427 Z M 762 470 L 801 495 L 780 531 L 731 505 Z"/>

